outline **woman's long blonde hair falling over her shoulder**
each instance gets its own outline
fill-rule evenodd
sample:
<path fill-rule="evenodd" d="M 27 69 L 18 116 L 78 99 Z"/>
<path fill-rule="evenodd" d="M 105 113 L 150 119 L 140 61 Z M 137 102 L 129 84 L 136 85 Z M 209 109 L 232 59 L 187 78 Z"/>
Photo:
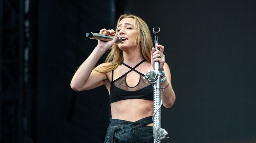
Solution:
<path fill-rule="evenodd" d="M 149 27 L 146 24 L 146 22 L 133 14 L 123 14 L 119 17 L 119 19 L 117 20 L 117 25 L 116 25 L 116 31 L 119 25 L 119 22 L 124 19 L 124 18 L 133 18 L 134 19 L 134 23 L 135 23 L 135 27 L 137 29 L 137 34 L 136 34 L 136 40 L 135 40 L 135 47 L 136 49 L 141 47 L 141 54 L 142 57 L 147 60 L 147 61 L 151 61 L 151 48 L 153 47 L 153 41 L 152 41 L 152 37 L 151 34 L 149 32 Z M 98 72 L 109 72 L 114 70 L 115 68 L 117 68 L 124 60 L 123 58 L 123 51 L 121 49 L 119 49 L 119 47 L 117 46 L 117 44 L 114 44 L 111 48 L 110 48 L 110 53 L 107 55 L 105 62 L 111 62 L 112 65 L 110 65 L 109 68 L 103 68 L 106 66 L 103 66 L 101 68 L 103 68 L 101 70 L 101 68 L 98 69 L 94 69 L 95 71 Z"/>

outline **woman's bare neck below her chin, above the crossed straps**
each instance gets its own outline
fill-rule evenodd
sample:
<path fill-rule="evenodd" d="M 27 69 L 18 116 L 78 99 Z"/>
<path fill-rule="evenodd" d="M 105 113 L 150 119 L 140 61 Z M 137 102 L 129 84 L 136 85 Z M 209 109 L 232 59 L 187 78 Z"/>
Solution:
<path fill-rule="evenodd" d="M 123 52 L 124 56 L 124 63 L 128 64 L 129 66 L 133 66 L 138 64 L 140 61 L 144 60 L 141 54 L 140 47 L 137 50 L 129 50 Z"/>

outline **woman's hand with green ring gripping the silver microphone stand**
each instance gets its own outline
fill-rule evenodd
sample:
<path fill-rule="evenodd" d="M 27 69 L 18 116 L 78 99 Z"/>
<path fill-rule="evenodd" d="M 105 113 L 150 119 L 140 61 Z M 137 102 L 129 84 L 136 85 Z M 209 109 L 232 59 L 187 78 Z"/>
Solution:
<path fill-rule="evenodd" d="M 165 47 L 162 45 L 157 45 L 156 49 L 153 47 L 151 51 L 151 64 L 153 68 L 155 69 L 155 62 L 158 61 L 160 64 L 159 71 L 162 71 L 164 64 L 165 64 L 165 55 L 163 54 Z"/>

